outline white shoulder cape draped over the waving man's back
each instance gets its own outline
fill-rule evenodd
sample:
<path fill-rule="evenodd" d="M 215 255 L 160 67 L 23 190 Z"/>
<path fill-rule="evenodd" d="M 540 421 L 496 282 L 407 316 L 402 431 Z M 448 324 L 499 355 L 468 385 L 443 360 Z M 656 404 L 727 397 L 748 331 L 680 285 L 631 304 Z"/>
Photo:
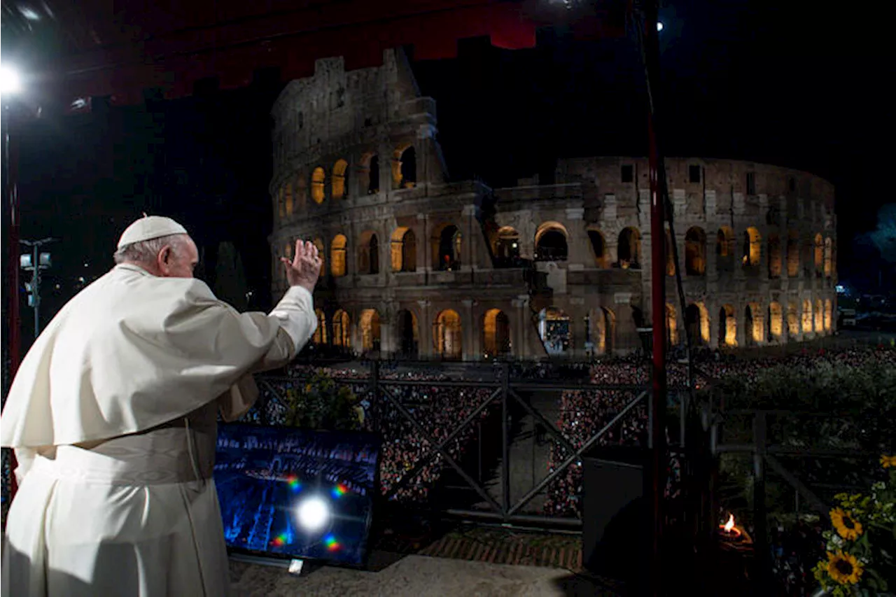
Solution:
<path fill-rule="evenodd" d="M 277 316 L 240 314 L 202 281 L 118 265 L 65 305 L 22 360 L 0 446 L 107 439 L 182 417 L 231 390 L 279 331 Z"/>

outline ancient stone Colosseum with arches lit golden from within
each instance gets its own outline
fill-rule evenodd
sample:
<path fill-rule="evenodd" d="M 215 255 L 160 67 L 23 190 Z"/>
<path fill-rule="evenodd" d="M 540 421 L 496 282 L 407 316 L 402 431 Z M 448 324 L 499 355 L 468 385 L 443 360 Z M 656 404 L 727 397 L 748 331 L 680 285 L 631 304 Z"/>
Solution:
<path fill-rule="evenodd" d="M 452 181 L 401 52 L 290 82 L 272 108 L 273 290 L 296 238 L 324 256 L 314 342 L 411 358 L 625 354 L 650 322 L 646 159 L 558 160 L 510 188 Z M 450 156 L 449 156 L 450 158 Z M 830 183 L 736 160 L 667 160 L 668 342 L 762 346 L 831 333 Z"/>

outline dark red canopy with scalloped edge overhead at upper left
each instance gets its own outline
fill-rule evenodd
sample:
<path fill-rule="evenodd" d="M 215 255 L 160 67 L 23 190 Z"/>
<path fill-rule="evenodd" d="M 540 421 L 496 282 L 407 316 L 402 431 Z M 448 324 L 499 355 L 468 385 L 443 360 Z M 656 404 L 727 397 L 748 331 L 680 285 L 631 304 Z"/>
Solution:
<path fill-rule="evenodd" d="M 531 48 L 536 29 L 569 19 L 588 35 L 621 30 L 613 11 L 562 0 L 46 0 L 10 7 L 0 18 L 20 30 L 19 58 L 40 56 L 30 77 L 41 103 L 68 106 L 111 96 L 142 101 L 193 92 L 218 79 L 246 85 L 254 72 L 280 69 L 283 80 L 313 74 L 314 60 L 345 56 L 347 68 L 379 65 L 383 49 L 410 45 L 416 59 L 455 56 L 458 39 L 488 36 L 499 48 Z M 574 5 L 571 10 L 569 6 Z M 610 25 L 607 25 L 610 23 Z M 8 29 L 8 26 L 7 26 Z"/>

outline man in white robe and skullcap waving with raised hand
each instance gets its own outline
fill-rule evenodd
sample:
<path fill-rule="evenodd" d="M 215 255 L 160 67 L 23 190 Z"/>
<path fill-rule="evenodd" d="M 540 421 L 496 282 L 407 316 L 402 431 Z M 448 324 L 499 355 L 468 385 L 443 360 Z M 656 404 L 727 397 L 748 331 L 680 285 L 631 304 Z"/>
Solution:
<path fill-rule="evenodd" d="M 229 593 L 211 478 L 216 421 L 254 402 L 251 374 L 314 333 L 321 260 L 299 241 L 271 311 L 238 313 L 193 278 L 186 230 L 157 216 L 122 235 L 116 266 L 29 350 L 0 416 L 19 490 L 0 597 Z"/>

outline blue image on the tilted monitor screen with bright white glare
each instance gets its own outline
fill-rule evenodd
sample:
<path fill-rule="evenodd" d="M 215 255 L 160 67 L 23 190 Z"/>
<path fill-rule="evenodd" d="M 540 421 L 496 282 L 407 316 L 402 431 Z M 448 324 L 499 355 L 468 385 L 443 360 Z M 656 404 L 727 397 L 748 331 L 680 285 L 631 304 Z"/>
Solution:
<path fill-rule="evenodd" d="M 367 433 L 221 425 L 214 478 L 228 547 L 363 564 L 379 454 Z"/>

